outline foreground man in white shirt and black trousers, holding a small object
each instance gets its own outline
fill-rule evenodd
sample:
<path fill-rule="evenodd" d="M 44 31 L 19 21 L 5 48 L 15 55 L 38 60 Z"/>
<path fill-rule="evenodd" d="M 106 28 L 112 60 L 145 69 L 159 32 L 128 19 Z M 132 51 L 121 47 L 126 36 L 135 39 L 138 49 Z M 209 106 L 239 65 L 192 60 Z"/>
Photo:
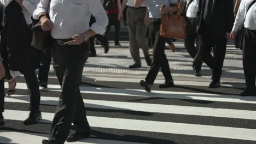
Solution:
<path fill-rule="evenodd" d="M 62 92 L 49 140 L 42 142 L 43 144 L 62 144 L 67 139 L 71 123 L 77 127 L 77 130 L 68 137 L 68 142 L 91 135 L 79 85 L 84 64 L 89 56 L 87 41 L 93 35 L 105 32 L 108 17 L 99 0 L 52 0 L 50 19 L 45 14 L 48 4 L 49 0 L 40 0 L 34 12 L 34 18 L 39 19 L 43 30 L 51 31 L 54 38 L 54 69 Z M 91 15 L 95 17 L 96 22 L 89 27 Z"/>

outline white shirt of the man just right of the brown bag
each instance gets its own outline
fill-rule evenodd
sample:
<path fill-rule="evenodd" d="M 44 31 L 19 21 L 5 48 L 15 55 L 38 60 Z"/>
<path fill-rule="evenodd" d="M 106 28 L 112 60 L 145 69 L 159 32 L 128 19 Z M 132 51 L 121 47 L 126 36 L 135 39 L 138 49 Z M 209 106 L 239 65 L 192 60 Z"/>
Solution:
<path fill-rule="evenodd" d="M 199 0 L 183 0 L 184 2 L 187 2 L 187 4 L 190 3 L 190 1 L 193 1 L 189 4 L 189 7 L 187 8 L 186 16 L 189 18 L 195 18 L 197 11 L 199 9 Z"/>

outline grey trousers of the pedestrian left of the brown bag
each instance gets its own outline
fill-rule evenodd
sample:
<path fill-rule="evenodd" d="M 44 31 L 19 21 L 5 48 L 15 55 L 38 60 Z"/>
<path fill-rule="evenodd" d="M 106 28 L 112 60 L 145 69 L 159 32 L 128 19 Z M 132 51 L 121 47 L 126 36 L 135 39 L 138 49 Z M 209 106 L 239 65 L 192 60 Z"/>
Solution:
<path fill-rule="evenodd" d="M 141 64 L 141 57 L 139 56 L 139 47 L 142 48 L 145 58 L 149 58 L 148 40 L 145 32 L 147 26 L 144 23 L 146 15 L 146 8 L 127 8 L 127 26 L 130 39 L 130 52 L 136 64 Z"/>

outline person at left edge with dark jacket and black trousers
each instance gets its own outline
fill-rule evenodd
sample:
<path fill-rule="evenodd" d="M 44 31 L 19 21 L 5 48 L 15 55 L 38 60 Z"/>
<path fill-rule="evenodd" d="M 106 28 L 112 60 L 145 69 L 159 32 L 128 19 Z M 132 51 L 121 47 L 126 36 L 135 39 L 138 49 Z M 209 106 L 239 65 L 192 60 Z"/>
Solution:
<path fill-rule="evenodd" d="M 39 51 L 31 46 L 31 16 L 39 0 L 0 1 L 3 4 L 5 14 L 3 24 L 8 43 L 9 69 L 20 71 L 24 75 L 30 94 L 30 115 L 25 119 L 24 124 L 34 124 L 42 119 L 42 114 L 39 110 L 39 84 L 35 72 L 39 68 Z"/>

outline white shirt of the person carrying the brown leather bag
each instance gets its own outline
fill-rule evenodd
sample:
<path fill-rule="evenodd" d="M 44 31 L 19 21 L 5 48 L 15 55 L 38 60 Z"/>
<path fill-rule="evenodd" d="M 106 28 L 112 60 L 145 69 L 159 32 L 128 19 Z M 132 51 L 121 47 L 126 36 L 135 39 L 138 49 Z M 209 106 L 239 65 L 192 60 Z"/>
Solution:
<path fill-rule="evenodd" d="M 145 0 L 148 6 L 149 17 L 154 19 L 161 18 L 161 5 L 165 4 L 168 7 L 170 4 L 177 3 L 178 0 Z"/>

